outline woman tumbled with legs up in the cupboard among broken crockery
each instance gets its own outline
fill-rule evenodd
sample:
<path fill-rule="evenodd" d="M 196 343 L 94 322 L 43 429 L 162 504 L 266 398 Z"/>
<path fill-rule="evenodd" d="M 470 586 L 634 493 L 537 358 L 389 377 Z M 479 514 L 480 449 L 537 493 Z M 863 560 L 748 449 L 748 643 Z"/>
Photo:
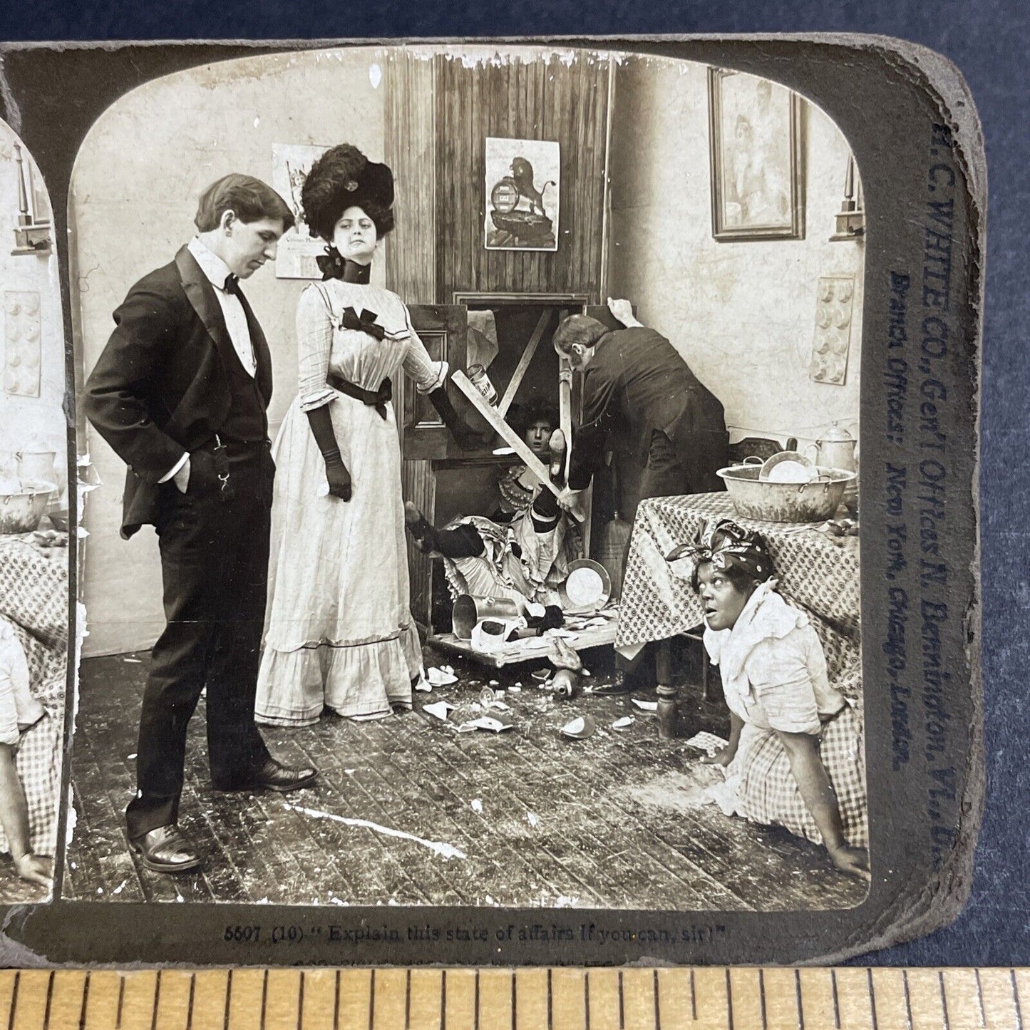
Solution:
<path fill-rule="evenodd" d="M 540 426 L 530 421 L 526 438 L 534 432 L 539 433 Z M 533 441 L 528 442 L 533 446 Z M 551 479 L 559 482 L 564 469 L 564 434 L 553 430 L 546 450 L 534 450 L 549 459 Z M 513 489 L 503 490 L 502 512 L 499 512 L 492 519 L 468 515 L 437 529 L 409 502 L 405 522 L 423 552 L 443 557 L 452 594 L 507 597 L 515 602 L 527 625 L 549 629 L 562 622 L 558 586 L 569 575 L 570 562 L 579 557 L 579 530 L 558 509 L 557 497 L 550 490 L 540 483 L 527 486 L 522 482 L 521 488 L 526 493 L 524 505 L 513 504 L 518 500 Z"/>

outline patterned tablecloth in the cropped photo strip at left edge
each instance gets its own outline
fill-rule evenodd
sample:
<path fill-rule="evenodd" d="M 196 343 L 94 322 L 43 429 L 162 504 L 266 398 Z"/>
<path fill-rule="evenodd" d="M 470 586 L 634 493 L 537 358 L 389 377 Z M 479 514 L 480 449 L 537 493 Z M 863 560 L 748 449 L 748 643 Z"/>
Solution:
<path fill-rule="evenodd" d="M 14 626 L 32 692 L 60 721 L 68 660 L 68 548 L 0 536 L 0 617 Z"/>

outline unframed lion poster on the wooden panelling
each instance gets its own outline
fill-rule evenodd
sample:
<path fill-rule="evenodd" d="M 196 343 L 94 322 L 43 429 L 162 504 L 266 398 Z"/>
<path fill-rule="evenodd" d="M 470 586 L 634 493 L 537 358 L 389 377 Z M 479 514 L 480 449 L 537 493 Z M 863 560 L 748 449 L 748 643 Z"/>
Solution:
<path fill-rule="evenodd" d="M 557 250 L 561 148 L 540 139 L 486 138 L 487 250 Z"/>

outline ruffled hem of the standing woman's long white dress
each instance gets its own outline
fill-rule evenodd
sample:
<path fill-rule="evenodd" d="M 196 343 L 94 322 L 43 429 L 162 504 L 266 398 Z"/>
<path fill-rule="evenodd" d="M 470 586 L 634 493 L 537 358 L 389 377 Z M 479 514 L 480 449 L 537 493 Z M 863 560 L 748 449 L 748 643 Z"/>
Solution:
<path fill-rule="evenodd" d="M 394 706 L 412 707 L 412 683 L 420 671 L 420 649 L 410 632 L 355 647 L 268 648 L 258 678 L 254 720 L 310 726 L 325 708 L 348 719 L 383 718 Z"/>

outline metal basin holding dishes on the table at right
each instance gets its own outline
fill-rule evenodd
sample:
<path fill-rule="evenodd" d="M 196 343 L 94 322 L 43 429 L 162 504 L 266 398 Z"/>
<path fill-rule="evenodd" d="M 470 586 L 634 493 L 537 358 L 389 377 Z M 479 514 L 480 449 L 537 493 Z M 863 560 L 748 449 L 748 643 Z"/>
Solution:
<path fill-rule="evenodd" d="M 760 467 L 735 465 L 717 475 L 726 484 L 737 515 L 766 522 L 825 522 L 840 506 L 845 488 L 855 479 L 847 469 L 817 466 L 812 483 L 774 483 L 759 479 Z"/>

